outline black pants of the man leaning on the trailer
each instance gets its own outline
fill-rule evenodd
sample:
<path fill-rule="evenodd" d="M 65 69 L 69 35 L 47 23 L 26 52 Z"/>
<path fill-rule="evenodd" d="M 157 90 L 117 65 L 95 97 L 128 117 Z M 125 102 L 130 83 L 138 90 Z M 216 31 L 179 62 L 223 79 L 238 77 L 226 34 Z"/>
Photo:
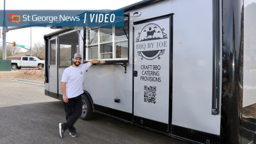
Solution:
<path fill-rule="evenodd" d="M 83 110 L 83 101 L 81 95 L 68 99 L 67 103 L 64 102 L 64 107 L 67 122 L 63 124 L 63 127 L 69 131 L 76 131 L 74 124 L 81 116 Z"/>

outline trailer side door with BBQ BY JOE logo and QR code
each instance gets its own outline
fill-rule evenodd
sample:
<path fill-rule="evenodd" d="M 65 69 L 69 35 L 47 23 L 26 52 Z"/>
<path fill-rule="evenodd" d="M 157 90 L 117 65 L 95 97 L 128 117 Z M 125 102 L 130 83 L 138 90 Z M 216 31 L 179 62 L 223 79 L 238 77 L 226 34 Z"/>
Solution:
<path fill-rule="evenodd" d="M 172 17 L 166 16 L 134 22 L 133 29 L 134 123 L 159 131 L 169 131 L 172 124 L 170 20 Z"/>

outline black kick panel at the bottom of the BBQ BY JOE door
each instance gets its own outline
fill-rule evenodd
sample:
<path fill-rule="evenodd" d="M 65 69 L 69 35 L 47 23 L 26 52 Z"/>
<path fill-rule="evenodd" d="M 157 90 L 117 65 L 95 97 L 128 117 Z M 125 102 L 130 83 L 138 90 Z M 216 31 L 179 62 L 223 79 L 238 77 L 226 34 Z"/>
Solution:
<path fill-rule="evenodd" d="M 153 129 L 157 129 L 159 131 L 168 132 L 168 124 L 164 124 L 162 122 L 157 122 L 154 120 L 149 120 L 147 118 L 141 118 L 140 116 L 134 116 L 134 122 L 145 127 L 150 127 Z"/>

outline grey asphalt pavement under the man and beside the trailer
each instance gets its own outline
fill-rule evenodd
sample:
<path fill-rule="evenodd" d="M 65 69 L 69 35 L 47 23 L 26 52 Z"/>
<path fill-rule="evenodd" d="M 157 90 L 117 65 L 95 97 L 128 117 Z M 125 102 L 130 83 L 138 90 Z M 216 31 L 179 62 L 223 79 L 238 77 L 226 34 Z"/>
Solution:
<path fill-rule="evenodd" d="M 77 120 L 79 137 L 67 130 L 61 138 L 60 122 L 63 102 L 44 95 L 44 85 L 0 79 L 0 143 L 186 143 L 99 114 Z"/>

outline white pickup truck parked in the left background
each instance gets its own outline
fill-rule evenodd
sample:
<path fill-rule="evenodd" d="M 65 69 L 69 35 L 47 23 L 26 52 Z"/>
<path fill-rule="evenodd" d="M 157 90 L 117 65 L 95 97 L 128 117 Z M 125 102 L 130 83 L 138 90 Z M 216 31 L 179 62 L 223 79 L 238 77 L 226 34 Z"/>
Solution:
<path fill-rule="evenodd" d="M 43 65 L 41 65 L 43 64 Z M 12 60 L 12 69 L 20 69 L 22 67 L 38 67 L 40 70 L 44 68 L 44 60 L 40 60 L 39 58 L 36 58 L 35 56 L 22 56 L 20 60 Z"/>

